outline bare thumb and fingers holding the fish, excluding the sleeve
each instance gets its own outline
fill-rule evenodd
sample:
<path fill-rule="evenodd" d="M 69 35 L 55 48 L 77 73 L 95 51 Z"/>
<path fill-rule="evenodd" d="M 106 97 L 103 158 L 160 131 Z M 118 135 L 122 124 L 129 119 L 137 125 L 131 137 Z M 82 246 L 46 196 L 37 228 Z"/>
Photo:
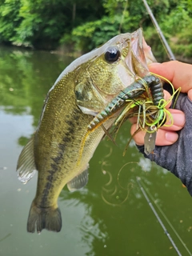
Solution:
<path fill-rule="evenodd" d="M 173 83 L 174 88 L 181 87 L 182 93 L 187 93 L 188 98 L 192 101 L 192 65 L 171 61 L 164 62 L 162 64 L 153 63 L 149 66 L 150 72 L 159 74 L 162 77 L 167 78 Z M 166 92 L 165 98 L 168 99 L 170 95 Z M 157 133 L 156 145 L 168 146 L 178 140 L 178 130 L 181 130 L 185 124 L 185 114 L 181 110 L 170 109 L 170 114 L 173 116 L 173 126 L 162 126 Z M 133 135 L 136 131 L 136 119 L 130 120 L 133 123 L 130 133 Z M 168 121 L 169 122 L 169 121 Z M 166 122 L 167 124 L 167 122 Z M 145 132 L 139 131 L 134 135 L 134 141 L 138 146 L 144 144 Z"/>

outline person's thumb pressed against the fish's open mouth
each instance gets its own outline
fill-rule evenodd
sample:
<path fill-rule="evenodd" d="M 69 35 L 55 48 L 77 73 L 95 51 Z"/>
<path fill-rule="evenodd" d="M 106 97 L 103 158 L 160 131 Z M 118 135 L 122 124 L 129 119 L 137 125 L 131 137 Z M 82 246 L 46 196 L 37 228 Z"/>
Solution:
<path fill-rule="evenodd" d="M 160 74 L 174 84 L 174 88 L 182 88 L 183 93 L 192 89 L 192 65 L 178 61 L 153 63 L 149 66 L 150 72 Z"/>

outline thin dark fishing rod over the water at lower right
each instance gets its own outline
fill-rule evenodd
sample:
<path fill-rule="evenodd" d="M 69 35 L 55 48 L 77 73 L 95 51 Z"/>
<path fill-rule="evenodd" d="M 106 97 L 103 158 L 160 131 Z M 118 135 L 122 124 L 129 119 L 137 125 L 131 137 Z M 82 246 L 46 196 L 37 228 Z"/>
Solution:
<path fill-rule="evenodd" d="M 164 230 L 164 232 L 165 232 L 167 238 L 170 239 L 170 242 L 171 242 L 172 246 L 174 246 L 174 250 L 176 250 L 176 252 L 178 253 L 179 256 L 182 256 L 182 254 L 181 254 L 180 251 L 178 250 L 178 247 L 175 245 L 174 240 L 171 238 L 170 233 L 166 230 L 166 226 L 164 226 L 164 224 L 162 223 L 161 218 L 158 216 L 157 211 L 154 209 L 154 206 L 153 206 L 152 203 L 150 202 L 150 198 L 148 198 L 148 196 L 147 196 L 147 194 L 146 194 L 146 190 L 144 190 L 144 188 L 143 188 L 143 186 L 142 186 L 142 184 L 141 184 L 141 182 L 140 182 L 140 181 L 141 181 L 141 178 L 136 177 L 136 180 L 137 180 L 137 182 L 138 182 L 138 186 L 139 186 L 140 190 L 142 191 L 142 194 L 143 194 L 144 197 L 146 198 L 146 201 L 148 202 L 148 204 L 149 204 L 151 210 L 153 211 L 155 217 L 157 218 L 159 224 L 162 226 L 162 229 Z"/>

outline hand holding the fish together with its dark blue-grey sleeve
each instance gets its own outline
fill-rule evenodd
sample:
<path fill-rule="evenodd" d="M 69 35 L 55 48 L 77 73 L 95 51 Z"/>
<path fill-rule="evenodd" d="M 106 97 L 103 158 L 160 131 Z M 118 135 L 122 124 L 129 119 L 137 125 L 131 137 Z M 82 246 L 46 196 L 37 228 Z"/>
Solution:
<path fill-rule="evenodd" d="M 171 61 L 153 64 L 150 71 L 169 79 L 175 89 L 181 86 L 182 93 L 178 96 L 175 109 L 169 109 L 174 125 L 162 126 L 158 130 L 154 154 L 144 153 L 144 133 L 136 134 L 134 140 L 138 144 L 138 150 L 146 158 L 180 178 L 192 196 L 192 65 Z M 135 129 L 136 125 L 133 124 L 132 134 Z"/>

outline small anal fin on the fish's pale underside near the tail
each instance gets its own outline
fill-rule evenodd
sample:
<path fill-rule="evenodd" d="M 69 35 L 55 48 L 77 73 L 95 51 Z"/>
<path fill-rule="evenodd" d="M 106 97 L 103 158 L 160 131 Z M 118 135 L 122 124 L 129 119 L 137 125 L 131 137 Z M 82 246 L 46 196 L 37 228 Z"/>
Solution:
<path fill-rule="evenodd" d="M 70 182 L 67 183 L 67 187 L 70 191 L 75 191 L 86 186 L 88 182 L 88 169 L 83 170 L 81 174 L 75 176 Z"/>

